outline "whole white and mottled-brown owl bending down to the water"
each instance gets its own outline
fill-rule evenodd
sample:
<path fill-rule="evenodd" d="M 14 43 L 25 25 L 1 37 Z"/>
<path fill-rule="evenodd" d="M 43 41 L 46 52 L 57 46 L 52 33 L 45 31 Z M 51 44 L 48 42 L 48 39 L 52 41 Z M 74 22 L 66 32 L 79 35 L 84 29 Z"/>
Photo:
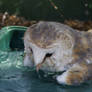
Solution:
<path fill-rule="evenodd" d="M 28 58 L 32 50 L 33 65 L 37 70 L 66 71 L 56 78 L 60 84 L 79 85 L 92 77 L 89 72 L 92 64 L 91 31 L 80 32 L 64 24 L 41 21 L 25 32 L 24 45 L 24 65 L 31 62 Z"/>

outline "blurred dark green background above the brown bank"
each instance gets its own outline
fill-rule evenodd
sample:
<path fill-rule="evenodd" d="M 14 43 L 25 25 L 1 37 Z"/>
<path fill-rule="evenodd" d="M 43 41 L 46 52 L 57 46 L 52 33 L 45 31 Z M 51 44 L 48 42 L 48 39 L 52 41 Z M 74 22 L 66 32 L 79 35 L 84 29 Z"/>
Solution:
<path fill-rule="evenodd" d="M 5 11 L 29 20 L 91 20 L 92 0 L 0 0 L 0 12 Z"/>

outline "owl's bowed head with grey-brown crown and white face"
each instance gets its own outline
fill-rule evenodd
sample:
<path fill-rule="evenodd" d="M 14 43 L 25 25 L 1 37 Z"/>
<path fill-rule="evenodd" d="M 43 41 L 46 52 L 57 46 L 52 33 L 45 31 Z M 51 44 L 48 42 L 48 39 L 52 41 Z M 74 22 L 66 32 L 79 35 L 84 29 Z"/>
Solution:
<path fill-rule="evenodd" d="M 70 27 L 56 22 L 39 22 L 28 28 L 24 34 L 25 52 L 30 54 L 32 51 L 37 70 L 47 62 L 48 54 L 51 54 L 51 59 L 48 61 L 52 61 L 55 67 L 59 67 L 56 70 L 63 69 L 60 67 L 64 67 L 72 60 L 70 58 L 74 40 L 70 30 L 72 30 Z M 28 56 L 30 55 L 27 55 L 27 58 Z M 26 60 L 24 59 L 24 62 L 30 62 Z M 47 65 L 51 66 L 50 63 Z"/>

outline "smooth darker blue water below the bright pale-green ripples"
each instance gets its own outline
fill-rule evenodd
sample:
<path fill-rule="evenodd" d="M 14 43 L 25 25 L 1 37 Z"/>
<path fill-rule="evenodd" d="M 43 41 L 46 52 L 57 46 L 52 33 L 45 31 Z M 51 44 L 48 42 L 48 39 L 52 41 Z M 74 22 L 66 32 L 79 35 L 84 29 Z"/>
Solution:
<path fill-rule="evenodd" d="M 25 67 L 0 69 L 0 92 L 92 92 L 92 83 L 70 87 L 46 79 L 39 79 L 36 71 Z"/>

